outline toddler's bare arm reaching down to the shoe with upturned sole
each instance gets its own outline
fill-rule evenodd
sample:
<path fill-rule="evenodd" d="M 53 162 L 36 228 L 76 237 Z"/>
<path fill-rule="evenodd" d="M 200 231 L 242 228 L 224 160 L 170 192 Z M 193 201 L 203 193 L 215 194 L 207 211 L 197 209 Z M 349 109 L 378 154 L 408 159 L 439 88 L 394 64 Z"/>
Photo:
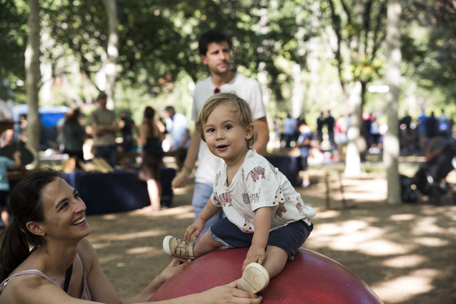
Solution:
<path fill-rule="evenodd" d="M 254 237 L 242 265 L 242 271 L 250 263 L 263 263 L 264 249 L 268 243 L 269 230 L 271 229 L 271 209 L 271 207 L 261 207 L 255 210 Z"/>

